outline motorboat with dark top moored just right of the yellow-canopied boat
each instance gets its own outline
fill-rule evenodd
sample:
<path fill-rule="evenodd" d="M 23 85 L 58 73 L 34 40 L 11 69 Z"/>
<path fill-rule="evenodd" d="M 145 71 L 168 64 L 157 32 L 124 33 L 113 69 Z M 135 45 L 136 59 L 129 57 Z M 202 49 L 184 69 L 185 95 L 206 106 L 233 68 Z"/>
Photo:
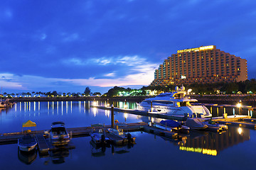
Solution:
<path fill-rule="evenodd" d="M 70 142 L 70 135 L 68 135 L 63 122 L 52 123 L 49 135 L 53 145 L 67 145 Z"/>

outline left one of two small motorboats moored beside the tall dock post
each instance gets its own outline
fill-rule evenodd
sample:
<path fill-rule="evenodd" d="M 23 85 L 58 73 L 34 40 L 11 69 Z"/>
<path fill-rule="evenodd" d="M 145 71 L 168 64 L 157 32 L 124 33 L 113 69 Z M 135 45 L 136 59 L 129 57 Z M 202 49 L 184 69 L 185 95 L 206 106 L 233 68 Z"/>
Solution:
<path fill-rule="evenodd" d="M 96 144 L 106 144 L 110 142 L 110 139 L 106 137 L 104 125 L 95 124 L 92 125 L 91 128 L 90 137 L 92 137 L 93 142 Z"/>

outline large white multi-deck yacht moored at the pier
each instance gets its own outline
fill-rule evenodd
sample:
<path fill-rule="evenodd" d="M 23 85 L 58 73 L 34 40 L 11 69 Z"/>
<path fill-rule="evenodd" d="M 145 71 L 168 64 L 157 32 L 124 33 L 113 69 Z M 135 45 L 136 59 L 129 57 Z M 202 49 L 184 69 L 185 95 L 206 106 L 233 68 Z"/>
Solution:
<path fill-rule="evenodd" d="M 149 111 L 149 113 L 166 113 L 176 117 L 211 117 L 211 113 L 206 106 L 192 106 L 191 102 L 196 99 L 186 97 L 185 87 L 181 86 L 176 91 L 159 94 L 154 98 L 147 98 L 142 103 L 137 103 L 139 111 Z"/>

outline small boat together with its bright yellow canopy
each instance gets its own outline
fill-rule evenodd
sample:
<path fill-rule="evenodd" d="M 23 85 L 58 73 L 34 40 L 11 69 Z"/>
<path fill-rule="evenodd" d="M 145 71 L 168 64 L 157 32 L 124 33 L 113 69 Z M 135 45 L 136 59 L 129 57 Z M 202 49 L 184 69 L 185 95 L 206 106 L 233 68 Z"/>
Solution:
<path fill-rule="evenodd" d="M 28 120 L 26 123 L 23 123 L 22 132 L 23 132 L 23 128 L 28 128 L 28 127 L 36 127 L 36 123 L 33 123 L 31 120 Z M 32 151 L 33 149 L 36 148 L 36 145 L 37 145 L 36 138 L 33 137 L 32 135 L 26 134 L 26 135 L 23 135 L 22 138 L 18 139 L 18 147 L 23 152 Z"/>

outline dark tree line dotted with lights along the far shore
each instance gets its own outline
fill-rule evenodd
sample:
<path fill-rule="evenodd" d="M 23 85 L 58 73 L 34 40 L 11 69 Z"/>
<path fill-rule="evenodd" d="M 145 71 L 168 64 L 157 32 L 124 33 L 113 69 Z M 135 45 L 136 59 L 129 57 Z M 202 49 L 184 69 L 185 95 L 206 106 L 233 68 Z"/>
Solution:
<path fill-rule="evenodd" d="M 4 96 L 107 96 L 107 97 L 114 97 L 114 96 L 145 96 L 149 95 L 149 91 L 156 91 L 155 94 L 164 93 L 168 91 L 174 91 L 175 86 L 181 86 L 181 84 L 178 85 L 169 85 L 169 86 L 143 86 L 141 89 L 130 89 L 130 88 L 124 88 L 119 86 L 114 86 L 112 89 L 107 91 L 105 94 L 100 94 L 100 92 L 94 92 L 92 93 L 90 88 L 87 86 L 85 88 L 85 91 L 81 94 L 78 93 L 62 93 L 58 91 L 48 91 L 48 92 L 22 92 L 18 94 L 7 94 L 4 92 Z M 183 84 L 183 86 L 186 87 L 186 90 L 192 89 L 193 93 L 195 94 L 238 94 L 238 92 L 242 94 L 256 94 L 256 79 L 250 79 L 246 81 L 240 81 L 240 82 L 232 82 L 232 83 L 226 83 L 226 82 L 219 82 L 214 84 Z"/>

